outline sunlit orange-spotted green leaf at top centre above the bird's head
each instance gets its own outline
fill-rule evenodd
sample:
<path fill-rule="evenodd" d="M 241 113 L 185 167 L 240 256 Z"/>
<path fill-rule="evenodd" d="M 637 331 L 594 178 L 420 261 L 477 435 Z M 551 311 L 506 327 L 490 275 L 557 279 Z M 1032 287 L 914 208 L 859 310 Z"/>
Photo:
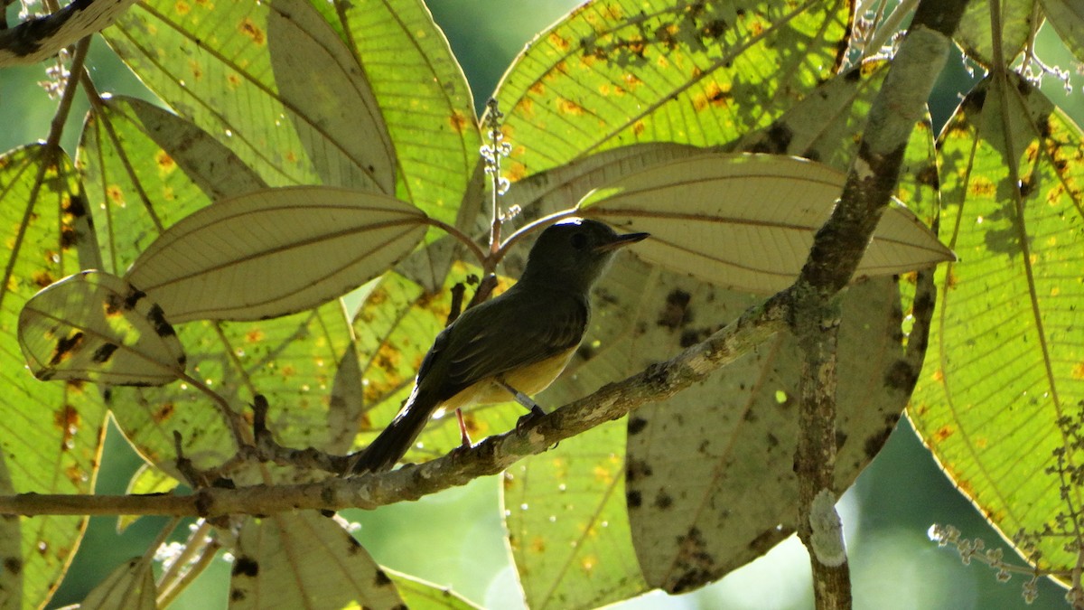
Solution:
<path fill-rule="evenodd" d="M 851 5 L 589 2 L 539 35 L 496 98 L 515 181 L 634 142 L 722 144 L 840 63 Z"/>

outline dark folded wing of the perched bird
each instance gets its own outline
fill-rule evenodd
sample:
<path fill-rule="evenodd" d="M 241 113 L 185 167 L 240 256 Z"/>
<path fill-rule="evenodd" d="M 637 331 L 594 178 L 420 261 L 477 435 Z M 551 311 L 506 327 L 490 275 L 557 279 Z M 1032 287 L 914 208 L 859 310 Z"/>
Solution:
<path fill-rule="evenodd" d="M 567 352 L 583 339 L 588 328 L 588 304 L 582 300 L 562 294 L 560 300 L 540 308 L 520 298 L 519 294 L 508 296 L 512 298 L 504 303 L 492 303 L 502 306 L 502 320 L 516 320 L 512 329 L 506 325 L 476 323 L 470 325 L 477 328 L 472 336 L 453 336 L 449 341 L 446 392 L 441 393 L 441 399 L 450 398 L 482 379 Z M 478 316 L 488 314 L 481 307 L 475 309 L 478 309 Z M 470 313 L 468 309 L 464 315 Z"/>

